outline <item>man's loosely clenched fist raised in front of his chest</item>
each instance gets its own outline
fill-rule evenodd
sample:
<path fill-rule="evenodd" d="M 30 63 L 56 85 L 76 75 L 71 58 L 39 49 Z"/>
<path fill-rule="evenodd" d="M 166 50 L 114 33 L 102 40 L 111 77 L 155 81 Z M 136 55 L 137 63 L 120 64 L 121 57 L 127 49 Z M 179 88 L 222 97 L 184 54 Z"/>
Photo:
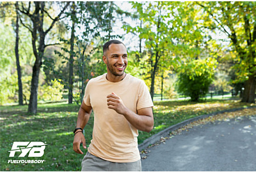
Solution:
<path fill-rule="evenodd" d="M 122 99 L 118 97 L 115 92 L 112 92 L 107 96 L 108 108 L 115 110 L 117 113 L 125 115 L 127 108 L 125 107 Z"/>

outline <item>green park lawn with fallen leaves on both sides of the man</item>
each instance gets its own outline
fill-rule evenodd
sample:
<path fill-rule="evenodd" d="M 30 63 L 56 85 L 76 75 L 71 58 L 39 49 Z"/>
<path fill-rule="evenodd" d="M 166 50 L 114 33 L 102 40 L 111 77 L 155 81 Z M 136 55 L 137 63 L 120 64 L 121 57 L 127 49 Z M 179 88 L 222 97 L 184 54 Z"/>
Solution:
<path fill-rule="evenodd" d="M 255 104 L 241 103 L 234 100 L 207 100 L 201 103 L 189 101 L 154 102 L 154 129 L 150 133 L 141 132 L 138 143 L 166 127 L 188 118 Z M 81 171 L 83 155 L 72 149 L 76 127 L 76 104 L 52 103 L 38 104 L 38 113 L 26 113 L 28 106 L 1 106 L 1 171 Z M 93 114 L 85 127 L 86 146 L 92 140 Z M 42 157 L 9 157 L 13 141 L 42 141 L 47 143 Z M 86 153 L 86 150 L 81 148 Z M 43 164 L 8 164 L 9 159 L 40 159 Z"/>

